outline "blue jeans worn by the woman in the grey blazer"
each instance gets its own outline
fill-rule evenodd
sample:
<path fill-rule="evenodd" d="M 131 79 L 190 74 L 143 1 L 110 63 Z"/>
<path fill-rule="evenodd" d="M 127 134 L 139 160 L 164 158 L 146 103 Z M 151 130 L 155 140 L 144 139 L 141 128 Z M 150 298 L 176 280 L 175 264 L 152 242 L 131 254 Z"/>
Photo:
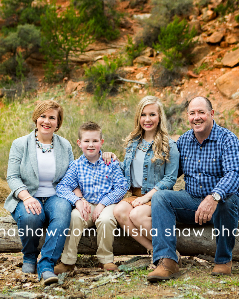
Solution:
<path fill-rule="evenodd" d="M 65 232 L 66 228 L 69 228 L 71 221 L 71 210 L 72 206 L 64 198 L 60 198 L 56 195 L 43 198 L 36 198 L 41 206 L 42 213 L 33 215 L 27 213 L 22 200 L 20 200 L 12 214 L 13 219 L 17 222 L 19 235 L 22 241 L 22 253 L 23 262 L 36 265 L 37 257 L 40 251 L 37 249 L 39 245 L 39 239 L 41 231 L 38 228 L 42 228 L 45 220 L 49 221 L 48 233 L 52 231 L 50 236 L 46 234 L 45 243 L 41 249 L 42 257 L 37 264 L 37 273 L 39 280 L 42 272 L 54 271 L 56 261 L 62 254 L 62 249 L 65 244 L 65 239 L 68 231 Z M 32 231 L 33 230 L 33 231 Z M 54 235 L 54 236 L 53 236 Z"/>

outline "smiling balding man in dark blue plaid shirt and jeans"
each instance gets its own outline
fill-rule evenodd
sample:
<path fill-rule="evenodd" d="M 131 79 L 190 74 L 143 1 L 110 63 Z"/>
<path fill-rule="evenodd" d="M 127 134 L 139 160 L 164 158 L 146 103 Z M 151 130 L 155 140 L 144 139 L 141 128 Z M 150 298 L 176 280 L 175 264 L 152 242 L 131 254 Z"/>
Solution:
<path fill-rule="evenodd" d="M 212 223 L 219 232 L 212 275 L 231 275 L 232 249 L 238 234 L 239 141 L 218 126 L 211 102 L 195 97 L 188 105 L 191 130 L 177 141 L 185 190 L 158 191 L 152 197 L 153 262 L 157 268 L 147 280 L 179 277 L 176 235 L 169 234 L 176 221 Z"/>

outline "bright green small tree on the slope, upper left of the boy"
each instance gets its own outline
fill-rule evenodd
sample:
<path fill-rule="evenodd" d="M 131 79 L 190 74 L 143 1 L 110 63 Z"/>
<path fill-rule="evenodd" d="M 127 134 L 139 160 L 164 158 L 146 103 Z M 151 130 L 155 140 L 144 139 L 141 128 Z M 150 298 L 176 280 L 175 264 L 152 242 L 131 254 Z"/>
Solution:
<path fill-rule="evenodd" d="M 41 16 L 42 42 L 41 51 L 47 60 L 46 78 L 48 81 L 56 78 L 56 73 L 62 76 L 70 71 L 70 53 L 82 53 L 92 42 L 92 21 L 83 23 L 84 11 L 76 13 L 73 6 L 68 7 L 60 16 L 55 6 L 49 6 L 45 15 Z M 54 65 L 56 61 L 56 65 Z"/>

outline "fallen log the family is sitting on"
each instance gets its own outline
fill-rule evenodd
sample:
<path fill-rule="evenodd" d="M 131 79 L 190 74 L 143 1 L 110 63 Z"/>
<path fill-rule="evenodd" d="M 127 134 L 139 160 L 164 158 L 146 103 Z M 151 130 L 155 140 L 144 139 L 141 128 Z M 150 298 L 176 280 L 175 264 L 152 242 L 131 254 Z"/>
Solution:
<path fill-rule="evenodd" d="M 212 225 L 186 225 L 177 223 L 177 250 L 181 255 L 196 256 L 199 254 L 210 255 L 215 257 L 216 252 L 216 231 Z M 239 226 L 238 226 L 239 228 Z M 91 230 L 90 230 L 91 229 Z M 96 227 L 90 228 L 85 231 L 85 236 L 82 238 L 78 245 L 79 254 L 96 254 L 97 250 L 97 237 Z M 14 236 L 15 231 L 15 236 Z M 239 231 L 239 230 L 238 230 Z M 235 232 L 235 235 L 238 234 Z M 5 234 L 4 234 L 5 233 Z M 39 249 L 42 248 L 45 242 L 46 229 L 44 229 L 43 236 L 40 238 Z M 67 233 L 67 232 L 66 232 Z M 171 232 L 173 233 L 173 231 Z M 226 233 L 226 231 L 225 231 Z M 39 233 L 38 233 L 39 234 Z M 95 236 L 94 236 L 95 234 Z M 154 235 L 154 231 L 152 231 Z M 120 236 L 119 236 L 120 235 Z M 200 236 L 201 235 L 201 236 Z M 127 236 L 127 231 L 124 232 L 120 228 L 115 231 L 114 239 L 114 254 L 115 255 L 138 255 L 146 254 L 147 250 L 136 242 L 133 238 Z M 213 237 L 213 239 L 212 239 Z M 11 216 L 0 218 L 0 253 L 2 252 L 19 252 L 22 250 L 22 243 L 18 236 L 16 222 Z M 235 247 L 232 251 L 233 260 L 239 261 L 239 236 L 235 237 Z"/>

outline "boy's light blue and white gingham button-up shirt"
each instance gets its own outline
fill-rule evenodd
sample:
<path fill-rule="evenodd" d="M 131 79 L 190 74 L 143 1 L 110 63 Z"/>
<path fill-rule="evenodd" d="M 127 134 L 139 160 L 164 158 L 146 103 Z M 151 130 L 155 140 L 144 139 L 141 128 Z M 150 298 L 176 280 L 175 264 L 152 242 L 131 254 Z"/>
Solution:
<path fill-rule="evenodd" d="M 88 161 L 84 154 L 70 161 L 65 176 L 56 186 L 56 195 L 75 205 L 79 197 L 72 191 L 78 186 L 88 202 L 105 206 L 119 202 L 128 190 L 119 162 L 105 165 L 101 151 L 95 164 Z"/>

